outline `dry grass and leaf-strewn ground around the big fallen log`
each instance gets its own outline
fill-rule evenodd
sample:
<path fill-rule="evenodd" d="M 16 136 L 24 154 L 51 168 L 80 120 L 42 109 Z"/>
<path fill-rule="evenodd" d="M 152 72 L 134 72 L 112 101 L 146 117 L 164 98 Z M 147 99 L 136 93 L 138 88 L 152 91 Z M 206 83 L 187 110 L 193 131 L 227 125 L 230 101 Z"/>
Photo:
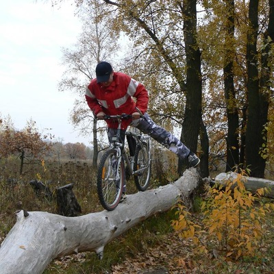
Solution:
<path fill-rule="evenodd" d="M 45 166 L 29 166 L 22 176 L 16 173 L 16 162 L 1 163 L 0 177 L 0 242 L 15 223 L 14 212 L 47 211 L 56 213 L 55 188 L 73 183 L 73 192 L 82 208 L 82 214 L 103 210 L 96 192 L 96 171 L 87 162 L 67 162 L 62 165 L 47 163 Z M 159 172 L 158 172 L 159 173 Z M 174 174 L 154 173 L 151 187 L 157 188 L 172 181 Z M 157 174 L 158 176 L 155 176 Z M 163 181 L 160 182 L 161 178 Z M 36 195 L 29 181 L 38 179 L 53 192 L 53 199 L 45 195 Z M 129 193 L 136 192 L 133 182 L 127 184 Z M 191 221 L 202 225 L 203 218 L 200 203 L 203 197 L 195 197 L 194 211 Z M 273 214 L 264 218 L 264 235 L 260 249 L 254 256 L 242 256 L 235 260 L 224 256 L 224 252 L 216 249 L 214 238 L 205 232 L 201 241 L 210 242 L 214 248 L 203 253 L 195 251 L 191 238 L 179 238 L 171 227 L 176 219 L 175 210 L 152 216 L 147 221 L 136 225 L 128 232 L 110 242 L 104 251 L 103 260 L 95 253 L 78 253 L 62 260 L 53 260 L 45 274 L 91 274 L 91 273 L 143 273 L 145 269 L 166 269 L 168 273 L 274 273 L 274 220 Z M 209 246 L 210 246 L 209 245 Z M 227 254 L 227 253 L 226 253 Z M 1 259 L 1 258 L 0 258 Z"/>

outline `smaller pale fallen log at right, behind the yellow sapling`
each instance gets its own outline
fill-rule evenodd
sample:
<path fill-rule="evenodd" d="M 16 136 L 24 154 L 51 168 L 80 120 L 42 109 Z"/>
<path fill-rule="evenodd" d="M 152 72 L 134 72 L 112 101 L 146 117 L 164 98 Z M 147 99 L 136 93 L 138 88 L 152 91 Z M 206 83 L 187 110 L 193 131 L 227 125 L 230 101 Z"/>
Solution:
<path fill-rule="evenodd" d="M 220 173 L 216 176 L 214 182 L 225 186 L 227 181 L 231 182 L 234 179 L 236 179 L 237 176 L 238 174 L 234 172 Z M 271 181 L 269 179 L 246 176 L 242 176 L 242 180 L 245 182 L 245 188 L 249 190 L 251 193 L 256 193 L 256 190 L 258 190 L 259 188 L 268 188 L 269 192 L 264 192 L 264 197 L 271 199 L 274 198 L 274 181 Z"/>

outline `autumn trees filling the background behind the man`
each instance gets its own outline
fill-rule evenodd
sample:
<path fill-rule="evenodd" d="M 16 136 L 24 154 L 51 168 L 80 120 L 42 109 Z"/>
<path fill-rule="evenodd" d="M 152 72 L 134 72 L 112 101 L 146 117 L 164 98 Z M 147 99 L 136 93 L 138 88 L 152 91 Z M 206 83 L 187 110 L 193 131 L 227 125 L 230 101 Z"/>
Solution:
<path fill-rule="evenodd" d="M 62 1 L 53 4 L 62 8 Z M 75 4 L 83 32 L 73 49 L 63 49 L 62 62 L 67 70 L 59 89 L 79 95 L 71 122 L 82 134 L 92 133 L 94 166 L 101 127 L 88 109 L 84 93 L 95 77 L 97 62 L 106 60 L 115 71 L 145 84 L 149 114 L 163 127 L 178 132 L 181 140 L 197 151 L 203 177 L 220 163 L 225 163 L 225 171 L 248 167 L 255 177 L 264 177 L 265 171 L 272 173 L 273 1 Z M 1 122 L 1 133 L 10 138 L 7 129 L 14 131 L 12 121 L 2 118 Z M 35 123 L 29 121 L 22 132 L 32 128 L 37 133 Z M 50 137 L 42 135 L 49 142 Z M 10 141 L 3 136 L 1 140 L 1 155 L 17 151 L 22 160 L 18 145 L 14 150 L 6 145 Z M 60 145 L 62 142 L 54 145 L 58 158 Z M 83 144 L 77 146 L 73 153 L 66 153 L 69 158 L 87 158 Z M 75 144 L 66 144 L 66 151 L 71 150 L 68 147 Z M 41 152 L 29 151 L 27 146 L 24 150 L 23 158 L 27 153 Z M 179 161 L 179 172 L 184 164 Z"/>

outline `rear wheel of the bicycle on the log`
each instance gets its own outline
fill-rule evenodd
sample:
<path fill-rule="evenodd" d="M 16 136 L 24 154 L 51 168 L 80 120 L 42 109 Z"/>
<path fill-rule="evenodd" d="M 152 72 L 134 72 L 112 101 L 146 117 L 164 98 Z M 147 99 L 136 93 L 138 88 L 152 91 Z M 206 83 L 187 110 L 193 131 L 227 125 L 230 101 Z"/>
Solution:
<path fill-rule="evenodd" d="M 142 147 L 136 147 L 134 155 L 134 172 L 140 170 L 140 173 L 134 174 L 136 188 L 145 191 L 149 186 L 151 176 L 151 162 L 149 158 L 149 148 L 146 142 L 142 142 Z"/>

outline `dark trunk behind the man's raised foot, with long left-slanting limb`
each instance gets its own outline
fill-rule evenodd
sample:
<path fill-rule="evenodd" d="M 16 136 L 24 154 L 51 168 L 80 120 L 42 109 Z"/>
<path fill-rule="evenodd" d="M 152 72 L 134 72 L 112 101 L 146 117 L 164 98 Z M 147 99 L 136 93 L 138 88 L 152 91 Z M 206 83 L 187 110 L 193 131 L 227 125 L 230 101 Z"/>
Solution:
<path fill-rule="evenodd" d="M 161 31 L 155 32 L 151 29 L 151 24 L 154 25 L 153 13 L 145 15 L 142 10 L 146 10 L 149 5 L 154 5 L 153 1 L 142 5 L 139 8 L 136 5 L 136 10 L 128 9 L 130 5 L 123 5 L 110 0 L 103 0 L 110 5 L 116 5 L 121 9 L 122 14 L 129 16 L 136 21 L 138 28 L 143 29 L 151 38 L 157 52 L 160 53 L 164 62 L 171 69 L 173 77 L 175 77 L 177 84 L 184 96 L 186 93 L 186 108 L 184 110 L 184 122 L 182 124 L 181 140 L 186 144 L 190 150 L 197 152 L 197 142 L 199 136 L 199 126 L 201 121 L 201 52 L 199 50 L 199 43 L 197 42 L 197 1 L 171 1 L 171 10 L 179 10 L 182 12 L 184 18 L 184 45 L 186 51 L 186 81 L 184 79 L 184 70 L 182 69 L 182 61 L 177 60 L 170 47 L 166 47 L 166 37 L 162 36 Z M 142 3 L 142 1 L 140 1 Z M 167 3 L 169 5 L 169 3 Z M 157 4 L 156 4 L 157 5 Z M 162 5 L 162 4 L 161 4 Z M 173 7 L 174 5 L 174 7 Z M 153 9 L 152 9 L 153 10 Z M 145 12 L 146 13 L 146 12 Z M 148 23 L 147 23 L 148 21 Z M 150 23 L 149 23 L 150 22 Z M 182 49 L 184 51 L 184 49 Z M 183 104 L 182 104 L 183 105 Z M 187 166 L 186 160 L 179 160 L 178 173 L 181 174 L 184 167 Z"/>

